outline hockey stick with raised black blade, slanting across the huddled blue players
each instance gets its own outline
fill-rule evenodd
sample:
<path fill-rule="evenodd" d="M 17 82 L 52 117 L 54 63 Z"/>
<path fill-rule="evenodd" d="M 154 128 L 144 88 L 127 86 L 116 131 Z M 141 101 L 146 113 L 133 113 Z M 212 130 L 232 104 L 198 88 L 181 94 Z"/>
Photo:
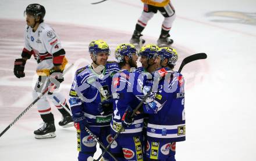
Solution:
<path fill-rule="evenodd" d="M 179 67 L 179 71 L 182 71 L 182 68 L 184 67 L 184 65 L 190 63 L 191 61 L 195 61 L 195 60 L 200 60 L 200 59 L 205 59 L 207 58 L 207 54 L 205 53 L 197 53 L 197 54 L 193 54 L 191 56 L 188 56 L 186 58 L 183 59 L 182 64 L 180 64 Z M 135 115 L 136 111 L 138 111 L 138 109 L 141 107 L 141 105 L 144 103 L 144 101 L 147 99 L 148 95 L 152 92 L 153 87 L 150 89 L 150 91 L 145 95 L 145 97 L 140 101 L 140 103 L 137 105 L 137 107 L 133 110 L 133 113 L 131 114 L 131 118 Z M 106 147 L 106 150 L 109 149 L 109 147 L 111 147 L 111 144 L 113 143 L 113 141 L 116 140 L 116 138 L 118 138 L 119 134 L 123 131 L 124 127 L 122 126 L 121 129 L 118 131 L 118 133 L 116 133 L 115 137 L 113 137 L 112 141 L 108 144 L 108 146 Z M 101 154 L 101 156 L 99 156 L 99 158 L 97 159 L 97 161 L 105 154 L 105 151 Z"/>

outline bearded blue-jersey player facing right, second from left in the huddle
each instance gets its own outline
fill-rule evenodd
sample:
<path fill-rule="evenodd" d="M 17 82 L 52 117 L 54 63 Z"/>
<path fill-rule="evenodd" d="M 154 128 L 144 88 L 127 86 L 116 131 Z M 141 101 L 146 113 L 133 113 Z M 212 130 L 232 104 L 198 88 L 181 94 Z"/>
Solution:
<path fill-rule="evenodd" d="M 140 103 L 143 94 L 143 76 L 131 72 L 137 67 L 137 51 L 131 44 L 116 47 L 115 57 L 121 70 L 113 76 L 113 118 L 111 133 L 115 136 L 124 127 L 118 138 L 111 145 L 111 152 L 118 160 L 143 160 L 142 130 L 143 115 L 136 111 L 131 118 L 133 109 Z"/>

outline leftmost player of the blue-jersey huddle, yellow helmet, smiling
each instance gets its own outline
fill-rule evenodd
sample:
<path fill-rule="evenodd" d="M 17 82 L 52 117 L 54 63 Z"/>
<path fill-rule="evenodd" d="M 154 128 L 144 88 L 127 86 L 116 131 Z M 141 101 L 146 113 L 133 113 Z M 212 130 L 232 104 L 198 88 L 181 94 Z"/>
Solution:
<path fill-rule="evenodd" d="M 113 105 L 99 104 L 108 101 L 111 96 L 112 75 L 119 71 L 118 64 L 109 62 L 109 46 L 102 40 L 93 41 L 89 45 L 89 52 L 93 63 L 76 71 L 70 90 L 70 107 L 72 118 L 77 129 L 78 160 L 92 158 L 96 152 L 96 141 L 90 136 L 85 126 L 99 138 L 104 146 L 111 141 L 110 121 Z M 104 155 L 108 160 L 109 155 Z"/>

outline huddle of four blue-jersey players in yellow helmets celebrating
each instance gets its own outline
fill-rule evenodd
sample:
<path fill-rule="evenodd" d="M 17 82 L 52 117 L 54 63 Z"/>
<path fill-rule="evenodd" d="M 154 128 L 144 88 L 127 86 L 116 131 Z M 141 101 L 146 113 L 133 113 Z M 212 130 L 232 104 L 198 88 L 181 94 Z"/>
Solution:
<path fill-rule="evenodd" d="M 107 43 L 97 40 L 89 52 L 93 63 L 77 70 L 69 99 L 79 160 L 96 151 L 85 126 L 105 146 L 120 132 L 110 148 L 118 160 L 175 160 L 175 143 L 185 140 L 186 131 L 184 79 L 172 70 L 176 50 L 149 44 L 137 53 L 124 43 L 116 47 L 116 63 L 107 61 Z M 139 68 L 138 56 L 143 65 Z M 104 158 L 113 159 L 108 154 Z"/>

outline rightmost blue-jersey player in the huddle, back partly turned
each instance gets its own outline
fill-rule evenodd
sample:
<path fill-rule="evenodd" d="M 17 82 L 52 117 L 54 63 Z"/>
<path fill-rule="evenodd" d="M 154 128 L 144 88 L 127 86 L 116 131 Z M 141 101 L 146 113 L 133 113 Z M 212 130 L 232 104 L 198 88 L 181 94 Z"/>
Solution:
<path fill-rule="evenodd" d="M 143 106 L 149 114 L 148 160 L 175 161 L 175 144 L 185 140 L 184 78 L 173 71 L 176 61 L 177 53 L 172 47 L 162 47 L 155 55 L 157 73 L 162 79 L 154 101 Z"/>

